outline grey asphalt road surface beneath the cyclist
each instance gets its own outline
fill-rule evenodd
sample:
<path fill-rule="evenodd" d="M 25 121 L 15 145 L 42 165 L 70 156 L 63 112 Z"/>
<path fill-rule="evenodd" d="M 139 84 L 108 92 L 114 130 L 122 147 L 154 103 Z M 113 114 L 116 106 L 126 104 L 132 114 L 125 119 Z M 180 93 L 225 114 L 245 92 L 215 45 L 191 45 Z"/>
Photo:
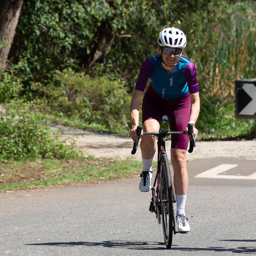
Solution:
<path fill-rule="evenodd" d="M 222 168 L 223 164 L 232 168 L 216 174 L 216 167 Z M 252 174 L 256 172 L 256 159 L 194 160 L 188 162 L 188 170 L 186 215 L 191 231 L 176 234 L 170 250 L 163 244 L 161 225 L 148 210 L 151 193 L 139 192 L 140 178 L 133 177 L 1 193 L 0 253 L 10 256 L 255 255 L 256 180 Z M 210 177 L 195 177 L 207 170 L 211 170 L 207 174 Z"/>

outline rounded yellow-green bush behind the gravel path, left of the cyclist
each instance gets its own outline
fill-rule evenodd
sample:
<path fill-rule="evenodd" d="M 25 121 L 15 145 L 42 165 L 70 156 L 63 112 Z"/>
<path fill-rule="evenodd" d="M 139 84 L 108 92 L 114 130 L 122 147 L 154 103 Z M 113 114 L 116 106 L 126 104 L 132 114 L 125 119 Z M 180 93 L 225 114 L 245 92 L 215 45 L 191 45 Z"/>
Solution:
<path fill-rule="evenodd" d="M 83 120 L 84 128 L 100 125 L 121 132 L 130 119 L 130 96 L 121 79 L 109 75 L 92 78 L 68 69 L 56 71 L 51 85 L 35 87 L 55 115 Z"/>

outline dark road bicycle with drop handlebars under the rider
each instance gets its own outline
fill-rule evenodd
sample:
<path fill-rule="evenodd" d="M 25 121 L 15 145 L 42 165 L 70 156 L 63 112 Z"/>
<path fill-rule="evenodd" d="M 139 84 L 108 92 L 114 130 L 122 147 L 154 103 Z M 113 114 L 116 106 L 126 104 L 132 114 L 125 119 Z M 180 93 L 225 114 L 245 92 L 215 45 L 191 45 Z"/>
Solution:
<path fill-rule="evenodd" d="M 165 118 L 163 120 L 166 120 Z M 142 132 L 142 126 L 137 127 L 137 138 L 134 142 L 132 154 L 137 150 L 139 139 Z M 158 137 L 158 168 L 156 177 L 151 188 L 152 199 L 149 210 L 156 214 L 158 224 L 162 222 L 164 242 L 167 248 L 171 248 L 172 234 L 179 233 L 175 228 L 174 203 L 176 197 L 174 186 L 171 179 L 169 161 L 166 154 L 165 142 L 167 137 L 173 134 L 186 134 L 186 132 L 170 132 L 169 130 L 161 130 L 156 133 L 143 133 L 143 135 L 155 135 Z M 193 135 L 193 125 L 188 124 L 188 134 L 191 136 L 189 153 L 192 153 L 195 147 L 195 138 Z"/>

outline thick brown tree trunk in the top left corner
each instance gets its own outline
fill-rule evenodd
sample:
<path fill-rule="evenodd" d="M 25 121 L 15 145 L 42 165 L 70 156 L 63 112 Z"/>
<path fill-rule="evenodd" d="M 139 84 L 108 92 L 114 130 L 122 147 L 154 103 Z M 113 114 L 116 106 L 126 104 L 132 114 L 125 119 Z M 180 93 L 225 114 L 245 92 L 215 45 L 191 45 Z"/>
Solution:
<path fill-rule="evenodd" d="M 23 0 L 0 1 L 0 70 L 4 68 L 8 58 L 22 4 Z"/>

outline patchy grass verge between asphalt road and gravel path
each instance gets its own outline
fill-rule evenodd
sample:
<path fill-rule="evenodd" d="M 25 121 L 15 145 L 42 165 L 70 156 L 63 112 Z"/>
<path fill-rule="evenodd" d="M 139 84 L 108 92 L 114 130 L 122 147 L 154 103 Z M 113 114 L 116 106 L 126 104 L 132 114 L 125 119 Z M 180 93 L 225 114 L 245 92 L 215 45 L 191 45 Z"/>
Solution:
<path fill-rule="evenodd" d="M 142 170 L 141 161 L 92 158 L 2 162 L 0 191 L 35 189 L 72 183 L 96 183 L 129 177 Z"/>

